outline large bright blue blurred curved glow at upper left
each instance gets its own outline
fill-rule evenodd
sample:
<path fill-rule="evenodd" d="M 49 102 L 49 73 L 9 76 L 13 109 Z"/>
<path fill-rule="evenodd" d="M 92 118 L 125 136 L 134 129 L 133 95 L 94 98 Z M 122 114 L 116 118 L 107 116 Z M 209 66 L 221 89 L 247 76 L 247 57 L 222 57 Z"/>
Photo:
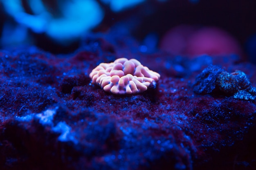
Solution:
<path fill-rule="evenodd" d="M 95 0 L 59 2 L 61 15 L 54 18 L 42 0 L 29 0 L 34 15 L 25 13 L 21 0 L 2 0 L 4 9 L 16 22 L 36 33 L 46 33 L 63 44 L 80 38 L 103 19 L 103 11 Z"/>

